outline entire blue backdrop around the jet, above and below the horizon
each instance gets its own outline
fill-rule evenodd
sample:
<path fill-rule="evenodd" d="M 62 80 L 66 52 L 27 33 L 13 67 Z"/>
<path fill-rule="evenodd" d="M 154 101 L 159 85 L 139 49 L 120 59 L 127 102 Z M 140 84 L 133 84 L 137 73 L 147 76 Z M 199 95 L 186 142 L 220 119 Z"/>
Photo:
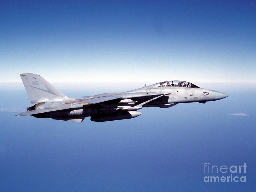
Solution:
<path fill-rule="evenodd" d="M 255 191 L 255 8 L 255 1 L 0 1 L 0 189 Z M 164 80 L 232 96 L 102 123 L 16 117 L 32 106 L 19 73 L 40 74 L 75 98 Z M 246 183 L 205 183 L 205 163 L 246 163 L 238 174 Z M 217 175 L 230 173 L 210 174 Z"/>

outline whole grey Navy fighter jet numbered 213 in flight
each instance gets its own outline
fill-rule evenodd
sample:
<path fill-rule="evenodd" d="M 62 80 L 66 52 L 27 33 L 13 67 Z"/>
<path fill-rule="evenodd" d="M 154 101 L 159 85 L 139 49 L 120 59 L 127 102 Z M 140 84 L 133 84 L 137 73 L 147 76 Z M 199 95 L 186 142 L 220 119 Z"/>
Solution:
<path fill-rule="evenodd" d="M 85 117 L 98 122 L 131 119 L 141 115 L 137 110 L 143 107 L 169 108 L 178 103 L 205 103 L 228 96 L 186 81 L 163 81 L 131 91 L 75 99 L 65 96 L 40 75 L 22 73 L 20 77 L 31 103 L 36 104 L 16 116 L 64 121 L 82 122 Z"/>

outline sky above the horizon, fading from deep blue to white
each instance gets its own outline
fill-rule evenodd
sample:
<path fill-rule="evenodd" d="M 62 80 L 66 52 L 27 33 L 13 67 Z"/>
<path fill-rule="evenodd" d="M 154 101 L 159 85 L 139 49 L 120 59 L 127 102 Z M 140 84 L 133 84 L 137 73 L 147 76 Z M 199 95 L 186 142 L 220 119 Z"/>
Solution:
<path fill-rule="evenodd" d="M 255 1 L 1 1 L 0 82 L 256 82 Z"/>

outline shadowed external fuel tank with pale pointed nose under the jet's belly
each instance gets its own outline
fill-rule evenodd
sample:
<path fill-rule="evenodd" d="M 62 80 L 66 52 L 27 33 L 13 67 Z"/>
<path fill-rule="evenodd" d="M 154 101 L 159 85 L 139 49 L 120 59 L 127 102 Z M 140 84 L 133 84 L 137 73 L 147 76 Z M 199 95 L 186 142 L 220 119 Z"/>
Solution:
<path fill-rule="evenodd" d="M 142 114 L 141 112 L 137 112 L 137 111 L 127 111 L 127 112 L 121 112 L 118 115 L 104 115 L 104 116 L 98 116 L 98 117 L 91 117 L 91 121 L 103 122 L 103 121 L 115 121 L 115 120 L 121 120 L 121 119 L 131 119 L 134 117 L 138 117 L 141 114 Z"/>

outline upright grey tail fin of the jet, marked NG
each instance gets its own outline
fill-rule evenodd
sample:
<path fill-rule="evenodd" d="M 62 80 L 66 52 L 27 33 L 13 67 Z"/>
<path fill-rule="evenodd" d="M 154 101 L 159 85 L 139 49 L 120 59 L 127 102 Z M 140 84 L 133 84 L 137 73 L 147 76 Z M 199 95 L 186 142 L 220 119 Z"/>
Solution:
<path fill-rule="evenodd" d="M 67 98 L 40 75 L 33 73 L 20 74 L 31 103 L 46 102 L 47 100 Z"/>

